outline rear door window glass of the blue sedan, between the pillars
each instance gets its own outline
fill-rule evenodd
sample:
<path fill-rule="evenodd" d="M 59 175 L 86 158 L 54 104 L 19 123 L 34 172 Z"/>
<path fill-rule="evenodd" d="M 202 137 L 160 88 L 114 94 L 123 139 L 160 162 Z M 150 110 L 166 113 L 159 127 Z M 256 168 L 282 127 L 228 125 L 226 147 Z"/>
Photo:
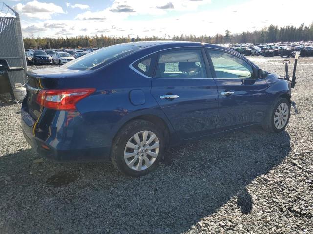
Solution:
<path fill-rule="evenodd" d="M 158 78 L 206 78 L 201 50 L 161 52 L 157 62 Z"/>

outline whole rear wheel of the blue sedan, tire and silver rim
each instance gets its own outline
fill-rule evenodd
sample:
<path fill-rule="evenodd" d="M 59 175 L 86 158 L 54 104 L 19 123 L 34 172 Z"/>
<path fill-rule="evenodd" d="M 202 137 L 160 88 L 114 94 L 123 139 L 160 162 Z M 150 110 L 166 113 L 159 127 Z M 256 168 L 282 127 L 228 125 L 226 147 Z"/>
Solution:
<path fill-rule="evenodd" d="M 128 176 L 143 176 L 156 169 L 164 152 L 164 137 L 151 122 L 126 124 L 112 144 L 114 166 Z"/>

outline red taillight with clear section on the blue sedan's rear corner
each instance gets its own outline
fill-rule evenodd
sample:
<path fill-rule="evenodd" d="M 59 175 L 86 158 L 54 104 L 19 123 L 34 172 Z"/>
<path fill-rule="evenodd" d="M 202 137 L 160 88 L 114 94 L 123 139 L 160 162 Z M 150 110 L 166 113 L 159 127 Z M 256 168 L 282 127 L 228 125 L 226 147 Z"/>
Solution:
<path fill-rule="evenodd" d="M 38 92 L 36 102 L 50 109 L 76 110 L 76 103 L 94 91 L 95 89 L 43 89 Z"/>

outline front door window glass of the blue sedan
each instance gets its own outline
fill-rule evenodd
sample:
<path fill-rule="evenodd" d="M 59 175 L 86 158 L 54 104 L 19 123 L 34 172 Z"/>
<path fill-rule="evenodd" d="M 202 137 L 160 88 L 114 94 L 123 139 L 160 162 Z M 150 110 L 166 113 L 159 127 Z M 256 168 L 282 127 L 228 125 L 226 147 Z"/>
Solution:
<path fill-rule="evenodd" d="M 209 51 L 216 78 L 253 78 L 253 69 L 242 59 L 222 52 Z"/>

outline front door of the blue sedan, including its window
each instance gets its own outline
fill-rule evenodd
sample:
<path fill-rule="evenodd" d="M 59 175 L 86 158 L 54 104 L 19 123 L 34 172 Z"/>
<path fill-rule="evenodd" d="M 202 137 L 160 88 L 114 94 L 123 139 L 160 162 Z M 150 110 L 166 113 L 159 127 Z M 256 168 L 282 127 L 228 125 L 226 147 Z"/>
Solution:
<path fill-rule="evenodd" d="M 227 130 L 262 122 L 269 105 L 267 82 L 235 53 L 207 50 L 219 95 L 217 129 Z"/>

